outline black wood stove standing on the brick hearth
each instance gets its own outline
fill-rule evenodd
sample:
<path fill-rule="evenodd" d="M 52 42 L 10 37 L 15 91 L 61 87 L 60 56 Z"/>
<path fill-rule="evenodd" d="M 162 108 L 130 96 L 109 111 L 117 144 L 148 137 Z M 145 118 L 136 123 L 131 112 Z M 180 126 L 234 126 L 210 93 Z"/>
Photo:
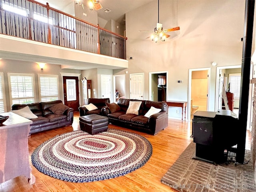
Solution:
<path fill-rule="evenodd" d="M 192 122 L 192 137 L 196 143 L 194 158 L 226 162 L 228 152 L 235 152 L 238 129 L 237 115 L 230 110 L 197 111 Z"/>

